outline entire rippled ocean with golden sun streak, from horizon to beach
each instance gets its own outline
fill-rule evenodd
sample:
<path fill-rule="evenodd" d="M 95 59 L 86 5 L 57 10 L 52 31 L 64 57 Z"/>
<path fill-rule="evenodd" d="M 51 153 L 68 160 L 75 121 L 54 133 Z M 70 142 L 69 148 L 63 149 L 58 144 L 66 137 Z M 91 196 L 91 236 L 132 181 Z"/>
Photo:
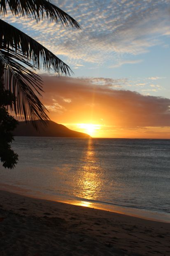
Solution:
<path fill-rule="evenodd" d="M 15 137 L 12 149 L 10 190 L 170 222 L 170 140 Z"/>

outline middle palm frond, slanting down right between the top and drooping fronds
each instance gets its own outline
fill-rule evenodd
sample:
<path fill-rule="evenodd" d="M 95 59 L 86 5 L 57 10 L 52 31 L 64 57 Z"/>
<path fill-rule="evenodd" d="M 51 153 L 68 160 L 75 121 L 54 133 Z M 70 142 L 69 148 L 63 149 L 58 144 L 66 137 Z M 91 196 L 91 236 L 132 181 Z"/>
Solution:
<path fill-rule="evenodd" d="M 47 71 L 53 69 L 54 72 L 66 76 L 73 73 L 67 64 L 43 45 L 0 19 L 0 49 L 9 51 L 10 48 L 16 52 L 22 52 L 23 56 L 29 61 L 31 60 L 38 69 L 41 67 Z"/>

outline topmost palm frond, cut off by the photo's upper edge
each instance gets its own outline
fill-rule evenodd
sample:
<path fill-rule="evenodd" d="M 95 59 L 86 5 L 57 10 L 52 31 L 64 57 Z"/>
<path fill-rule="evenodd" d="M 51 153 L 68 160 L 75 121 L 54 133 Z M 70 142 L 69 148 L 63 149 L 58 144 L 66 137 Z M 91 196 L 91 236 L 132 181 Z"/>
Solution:
<path fill-rule="evenodd" d="M 49 0 L 1 0 L 0 14 L 7 14 L 7 5 L 14 16 L 35 19 L 37 22 L 45 16 L 58 24 L 80 28 L 78 22 L 66 12 L 53 5 Z"/>

